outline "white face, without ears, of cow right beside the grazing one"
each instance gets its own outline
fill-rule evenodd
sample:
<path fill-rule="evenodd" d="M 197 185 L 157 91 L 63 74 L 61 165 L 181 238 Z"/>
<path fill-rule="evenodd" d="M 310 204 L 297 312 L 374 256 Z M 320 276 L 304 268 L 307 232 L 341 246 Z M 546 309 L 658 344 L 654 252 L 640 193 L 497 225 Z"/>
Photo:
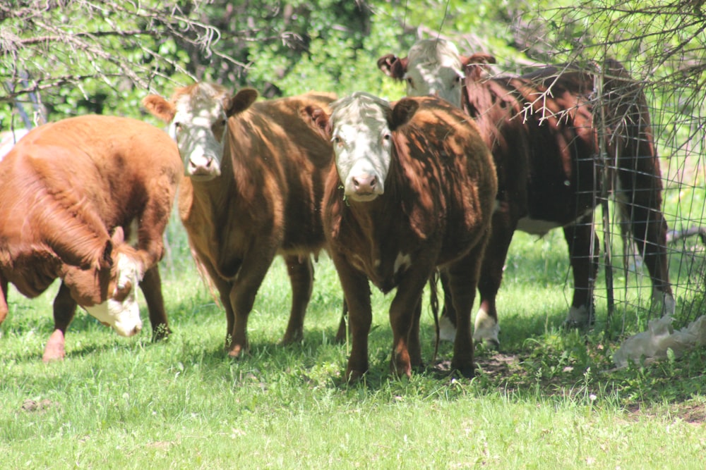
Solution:
<path fill-rule="evenodd" d="M 193 180 L 220 176 L 228 118 L 220 99 L 177 99 L 169 135 L 177 142 L 184 173 Z"/>

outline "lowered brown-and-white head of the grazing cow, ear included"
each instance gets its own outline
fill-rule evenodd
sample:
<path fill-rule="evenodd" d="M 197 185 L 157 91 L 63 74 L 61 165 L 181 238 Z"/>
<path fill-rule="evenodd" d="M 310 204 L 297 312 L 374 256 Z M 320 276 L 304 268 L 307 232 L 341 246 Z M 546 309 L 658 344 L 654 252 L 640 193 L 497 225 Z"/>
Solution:
<path fill-rule="evenodd" d="M 68 267 L 63 281 L 90 315 L 119 335 L 132 336 L 142 329 L 137 288 L 143 275 L 143 260 L 118 227 L 94 266 Z"/>

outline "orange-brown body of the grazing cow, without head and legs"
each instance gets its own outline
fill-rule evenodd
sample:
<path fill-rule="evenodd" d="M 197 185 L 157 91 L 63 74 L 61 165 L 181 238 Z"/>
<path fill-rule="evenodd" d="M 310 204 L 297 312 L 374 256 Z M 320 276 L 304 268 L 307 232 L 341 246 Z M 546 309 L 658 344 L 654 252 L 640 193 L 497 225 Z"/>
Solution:
<path fill-rule="evenodd" d="M 63 264 L 99 268 L 112 229 L 140 218 L 148 194 L 168 215 L 181 161 L 157 128 L 81 116 L 25 137 L 0 163 L 0 264 L 23 294 L 40 293 Z"/>

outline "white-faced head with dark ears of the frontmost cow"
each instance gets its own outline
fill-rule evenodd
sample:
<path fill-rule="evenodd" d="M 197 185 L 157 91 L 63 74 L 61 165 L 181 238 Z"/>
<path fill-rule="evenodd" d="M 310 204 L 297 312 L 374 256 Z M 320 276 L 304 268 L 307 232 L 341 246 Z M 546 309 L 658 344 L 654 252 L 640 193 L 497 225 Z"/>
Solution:
<path fill-rule="evenodd" d="M 333 142 L 338 176 L 352 201 L 369 202 L 385 192 L 393 131 L 407 123 L 417 107 L 412 99 L 391 107 L 388 101 L 355 92 L 330 105 L 330 118 L 321 109 L 309 112 L 314 125 Z"/>

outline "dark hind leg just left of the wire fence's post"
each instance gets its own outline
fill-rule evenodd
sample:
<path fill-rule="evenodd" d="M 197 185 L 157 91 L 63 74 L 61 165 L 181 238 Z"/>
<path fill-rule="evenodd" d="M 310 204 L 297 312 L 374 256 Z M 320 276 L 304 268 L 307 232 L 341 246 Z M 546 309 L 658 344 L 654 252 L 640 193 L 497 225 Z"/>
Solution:
<path fill-rule="evenodd" d="M 566 316 L 566 326 L 589 326 L 595 320 L 590 307 L 598 274 L 599 241 L 592 232 L 592 216 L 585 216 L 577 223 L 564 227 L 574 278 L 573 300 Z"/>

